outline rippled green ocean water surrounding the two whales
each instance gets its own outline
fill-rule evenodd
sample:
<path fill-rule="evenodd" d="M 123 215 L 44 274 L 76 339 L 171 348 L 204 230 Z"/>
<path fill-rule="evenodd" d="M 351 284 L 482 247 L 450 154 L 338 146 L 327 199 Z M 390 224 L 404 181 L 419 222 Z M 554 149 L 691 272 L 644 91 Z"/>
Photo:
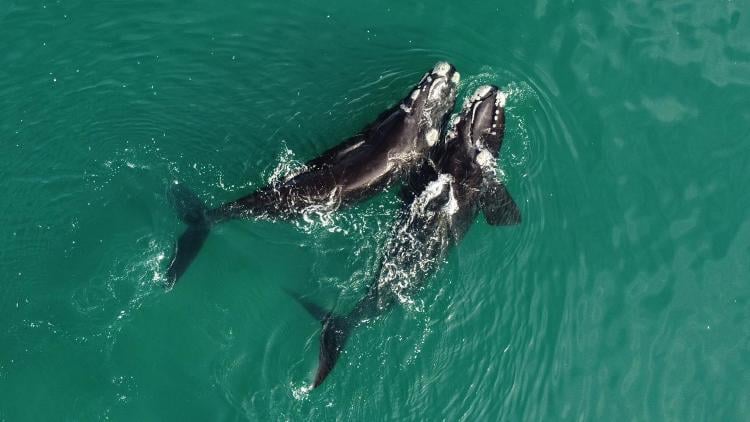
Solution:
<path fill-rule="evenodd" d="M 750 418 L 750 3 L 0 0 L 0 421 Z M 175 180 L 294 171 L 448 60 L 510 95 L 523 224 L 414 302 L 346 310 L 390 191 L 214 230 L 171 291 Z"/>

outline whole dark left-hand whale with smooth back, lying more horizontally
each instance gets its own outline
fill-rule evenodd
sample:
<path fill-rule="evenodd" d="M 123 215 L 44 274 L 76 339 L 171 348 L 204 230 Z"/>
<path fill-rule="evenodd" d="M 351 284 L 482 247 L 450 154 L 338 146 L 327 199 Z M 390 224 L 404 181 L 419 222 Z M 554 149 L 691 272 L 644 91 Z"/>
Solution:
<path fill-rule="evenodd" d="M 369 198 L 417 168 L 437 143 L 453 111 L 460 79 L 440 62 L 411 93 L 362 131 L 305 164 L 301 173 L 240 199 L 207 209 L 181 184 L 170 201 L 187 229 L 177 240 L 166 272 L 169 287 L 187 270 L 211 226 L 235 218 L 291 219 L 306 210 L 334 211 Z"/>

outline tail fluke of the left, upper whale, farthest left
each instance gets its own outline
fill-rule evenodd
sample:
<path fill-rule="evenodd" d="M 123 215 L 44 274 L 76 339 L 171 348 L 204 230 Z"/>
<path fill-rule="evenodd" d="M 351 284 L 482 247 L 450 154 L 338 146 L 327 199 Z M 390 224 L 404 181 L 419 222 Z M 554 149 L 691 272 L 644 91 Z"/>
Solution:
<path fill-rule="evenodd" d="M 207 216 L 206 206 L 184 185 L 170 185 L 167 197 L 177 212 L 177 217 L 188 226 L 177 239 L 167 268 L 166 284 L 167 287 L 172 287 L 198 255 L 211 230 L 211 221 Z"/>

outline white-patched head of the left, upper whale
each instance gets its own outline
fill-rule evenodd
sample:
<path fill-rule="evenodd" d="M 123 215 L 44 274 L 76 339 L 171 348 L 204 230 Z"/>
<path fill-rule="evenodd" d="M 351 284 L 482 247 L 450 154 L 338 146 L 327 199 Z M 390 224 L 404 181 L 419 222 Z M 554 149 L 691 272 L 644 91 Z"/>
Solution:
<path fill-rule="evenodd" d="M 427 72 L 400 104 L 407 114 L 406 124 L 414 131 L 417 147 L 427 149 L 440 139 L 456 102 L 461 75 L 447 62 L 439 62 Z"/>

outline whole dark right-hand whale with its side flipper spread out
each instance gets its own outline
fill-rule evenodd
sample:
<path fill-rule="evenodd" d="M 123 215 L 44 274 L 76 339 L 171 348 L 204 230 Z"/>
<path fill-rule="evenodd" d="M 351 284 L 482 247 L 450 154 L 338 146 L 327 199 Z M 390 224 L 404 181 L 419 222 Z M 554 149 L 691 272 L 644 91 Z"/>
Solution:
<path fill-rule="evenodd" d="M 313 387 L 331 372 L 354 328 L 402 301 L 435 271 L 481 210 L 491 225 L 521 221 L 521 213 L 495 174 L 504 130 L 505 94 L 483 86 L 466 101 L 445 140 L 407 186 L 405 206 L 387 242 L 377 277 L 345 315 L 300 299 L 317 317 L 320 336 Z"/>

